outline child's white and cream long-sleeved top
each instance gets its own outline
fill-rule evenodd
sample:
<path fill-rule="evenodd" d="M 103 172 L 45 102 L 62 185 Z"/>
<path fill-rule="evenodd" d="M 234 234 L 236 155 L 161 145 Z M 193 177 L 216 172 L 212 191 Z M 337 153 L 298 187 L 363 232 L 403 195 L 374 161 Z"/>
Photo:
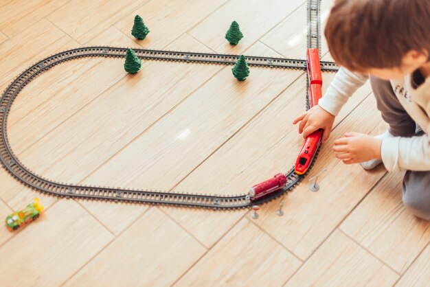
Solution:
<path fill-rule="evenodd" d="M 332 115 L 338 115 L 352 94 L 368 79 L 341 67 L 318 104 Z M 396 97 L 405 111 L 422 128 L 425 135 L 388 137 L 383 139 L 381 157 L 389 172 L 398 170 L 430 171 L 430 77 L 418 87 L 407 75 L 390 81 Z"/>

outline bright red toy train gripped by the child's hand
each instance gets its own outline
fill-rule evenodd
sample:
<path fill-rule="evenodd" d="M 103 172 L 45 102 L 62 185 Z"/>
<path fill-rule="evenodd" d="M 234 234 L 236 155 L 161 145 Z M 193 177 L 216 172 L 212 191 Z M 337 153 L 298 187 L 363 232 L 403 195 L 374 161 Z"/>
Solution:
<path fill-rule="evenodd" d="M 321 63 L 319 62 L 318 49 L 308 49 L 308 79 L 309 79 L 309 101 L 310 107 L 316 106 L 319 99 L 322 97 L 322 73 Z M 318 147 L 321 144 L 323 130 L 316 130 L 308 135 L 304 141 L 302 150 L 300 150 L 297 161 L 295 162 L 295 173 L 304 174 L 308 171 L 310 163 L 312 163 Z"/>

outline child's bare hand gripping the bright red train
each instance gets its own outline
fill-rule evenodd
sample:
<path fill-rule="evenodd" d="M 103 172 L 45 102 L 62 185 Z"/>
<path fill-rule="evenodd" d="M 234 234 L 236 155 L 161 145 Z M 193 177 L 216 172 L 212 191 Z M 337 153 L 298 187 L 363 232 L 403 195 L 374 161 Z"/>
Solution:
<path fill-rule="evenodd" d="M 335 116 L 328 113 L 320 106 L 314 106 L 303 115 L 299 115 L 293 120 L 293 124 L 299 124 L 299 133 L 303 133 L 303 137 L 306 139 L 308 135 L 315 132 L 319 128 L 324 130 L 322 142 L 326 141 L 330 137 L 333 123 L 335 122 Z"/>

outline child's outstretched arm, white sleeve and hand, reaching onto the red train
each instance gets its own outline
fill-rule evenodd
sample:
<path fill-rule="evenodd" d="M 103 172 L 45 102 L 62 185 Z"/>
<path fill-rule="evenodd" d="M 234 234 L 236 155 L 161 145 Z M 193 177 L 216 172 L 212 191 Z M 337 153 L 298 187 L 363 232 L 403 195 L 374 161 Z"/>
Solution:
<path fill-rule="evenodd" d="M 367 75 L 352 73 L 341 67 L 318 105 L 293 120 L 293 124 L 300 122 L 299 133 L 303 133 L 303 137 L 306 138 L 315 130 L 322 128 L 324 130 L 322 141 L 326 141 L 330 136 L 335 116 L 367 78 Z"/>

